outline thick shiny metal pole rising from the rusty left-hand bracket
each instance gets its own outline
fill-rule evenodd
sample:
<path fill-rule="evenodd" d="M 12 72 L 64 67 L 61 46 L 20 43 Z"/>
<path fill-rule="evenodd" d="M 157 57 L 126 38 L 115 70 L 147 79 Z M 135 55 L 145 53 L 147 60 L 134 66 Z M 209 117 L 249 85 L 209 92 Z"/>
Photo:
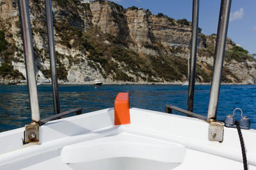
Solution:
<path fill-rule="evenodd" d="M 34 61 L 34 51 L 33 51 L 33 41 L 31 35 L 31 24 L 29 17 L 29 6 L 28 0 L 19 1 L 19 12 L 20 12 L 20 22 L 22 30 L 22 40 L 26 64 L 26 74 L 28 81 L 28 91 L 29 91 L 29 102 L 31 108 L 31 119 L 32 121 L 40 121 L 40 112 L 38 105 L 38 96 L 36 88 L 36 74 L 35 74 L 35 61 Z"/>

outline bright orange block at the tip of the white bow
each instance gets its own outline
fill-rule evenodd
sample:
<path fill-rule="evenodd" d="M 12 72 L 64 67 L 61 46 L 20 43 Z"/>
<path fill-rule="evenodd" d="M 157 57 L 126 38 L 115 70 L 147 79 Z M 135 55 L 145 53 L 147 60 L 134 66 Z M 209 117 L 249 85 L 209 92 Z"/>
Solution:
<path fill-rule="evenodd" d="M 118 93 L 115 100 L 115 125 L 131 123 L 129 111 L 129 93 Z"/>

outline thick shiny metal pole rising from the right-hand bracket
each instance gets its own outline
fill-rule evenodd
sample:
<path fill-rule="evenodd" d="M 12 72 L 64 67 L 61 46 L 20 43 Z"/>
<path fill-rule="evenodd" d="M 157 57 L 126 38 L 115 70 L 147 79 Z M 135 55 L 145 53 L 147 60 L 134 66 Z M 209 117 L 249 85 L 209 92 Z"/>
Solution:
<path fill-rule="evenodd" d="M 213 77 L 211 84 L 211 93 L 208 108 L 208 120 L 216 120 L 218 109 L 218 99 L 220 94 L 221 72 L 223 66 L 223 59 L 225 54 L 225 45 L 227 39 L 228 19 L 230 14 L 231 0 L 221 0 L 220 17 L 218 24 L 218 33 L 216 40 L 215 58 Z"/>

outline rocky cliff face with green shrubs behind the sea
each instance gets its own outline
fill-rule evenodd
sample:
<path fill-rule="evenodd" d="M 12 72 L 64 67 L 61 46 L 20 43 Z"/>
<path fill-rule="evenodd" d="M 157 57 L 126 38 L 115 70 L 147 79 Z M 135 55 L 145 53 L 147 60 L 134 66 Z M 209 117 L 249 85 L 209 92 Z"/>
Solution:
<path fill-rule="evenodd" d="M 68 5 L 67 5 L 68 4 Z M 29 3 L 37 79 L 49 82 L 44 1 Z M 109 1 L 55 0 L 54 36 L 60 82 L 183 82 L 191 23 Z M 16 1 L 0 1 L 0 81 L 26 78 Z M 196 81 L 210 82 L 216 35 L 198 37 Z M 224 82 L 255 83 L 256 61 L 227 39 Z"/>

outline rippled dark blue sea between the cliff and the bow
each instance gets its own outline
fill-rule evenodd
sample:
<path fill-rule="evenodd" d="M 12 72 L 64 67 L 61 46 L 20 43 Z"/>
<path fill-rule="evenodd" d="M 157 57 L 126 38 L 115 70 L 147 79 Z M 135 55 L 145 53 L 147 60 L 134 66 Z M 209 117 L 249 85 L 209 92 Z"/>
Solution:
<path fill-rule="evenodd" d="M 211 86 L 195 86 L 194 112 L 207 116 Z M 82 107 L 83 113 L 114 107 L 118 92 L 129 92 L 130 107 L 165 112 L 165 105 L 187 107 L 188 86 L 179 85 L 60 85 L 61 112 Z M 38 86 L 40 116 L 53 115 L 52 89 L 48 85 Z M 218 105 L 218 120 L 239 107 L 243 115 L 251 120 L 256 129 L 256 86 L 222 85 Z M 237 120 L 240 118 L 236 112 Z M 0 132 L 24 127 L 30 123 L 31 114 L 27 86 L 0 85 Z"/>

